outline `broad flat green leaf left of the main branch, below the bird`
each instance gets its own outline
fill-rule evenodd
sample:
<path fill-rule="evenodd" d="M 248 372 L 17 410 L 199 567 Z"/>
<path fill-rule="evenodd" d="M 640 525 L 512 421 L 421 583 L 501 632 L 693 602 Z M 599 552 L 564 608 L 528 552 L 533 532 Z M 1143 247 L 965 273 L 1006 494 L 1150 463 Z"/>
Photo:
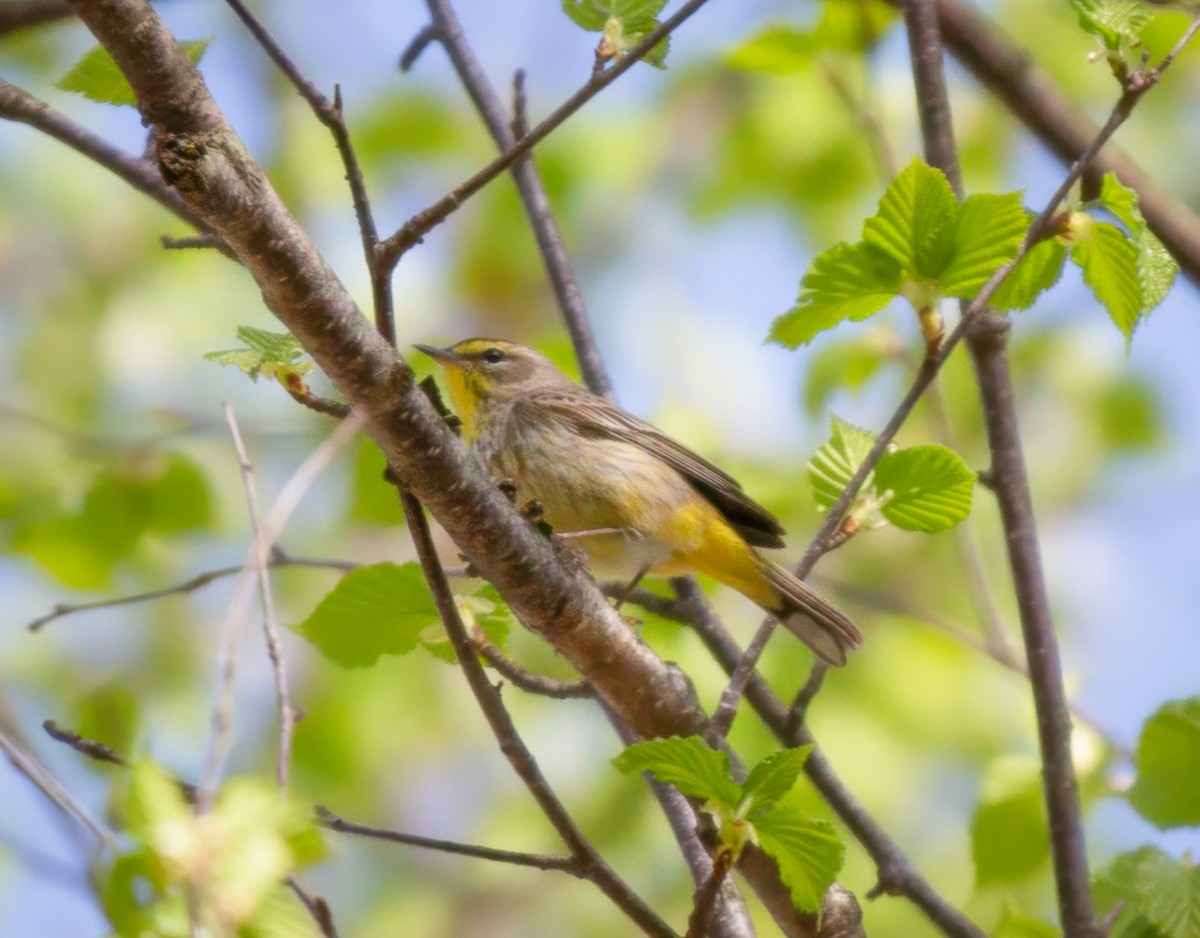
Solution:
<path fill-rule="evenodd" d="M 295 631 L 342 667 L 366 668 L 412 651 L 437 621 L 420 565 L 383 563 L 342 577 Z"/>

